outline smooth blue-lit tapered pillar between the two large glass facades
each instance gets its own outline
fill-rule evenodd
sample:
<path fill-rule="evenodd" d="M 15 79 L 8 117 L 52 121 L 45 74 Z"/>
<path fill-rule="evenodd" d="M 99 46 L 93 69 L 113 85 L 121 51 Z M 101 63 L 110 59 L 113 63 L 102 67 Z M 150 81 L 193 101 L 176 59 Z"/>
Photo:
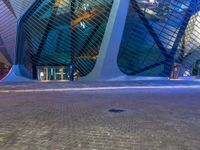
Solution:
<path fill-rule="evenodd" d="M 93 71 L 80 80 L 115 80 L 125 76 L 118 68 L 117 57 L 130 0 L 114 0 L 99 56 Z"/>

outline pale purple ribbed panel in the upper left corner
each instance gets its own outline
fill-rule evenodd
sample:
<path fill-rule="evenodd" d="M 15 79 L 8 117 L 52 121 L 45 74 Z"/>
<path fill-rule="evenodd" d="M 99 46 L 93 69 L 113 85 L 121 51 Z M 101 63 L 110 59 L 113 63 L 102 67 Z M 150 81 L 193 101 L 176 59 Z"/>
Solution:
<path fill-rule="evenodd" d="M 0 0 L 0 36 L 3 46 L 0 52 L 6 49 L 4 56 L 10 63 L 14 63 L 16 45 L 17 21 L 29 8 L 34 0 Z"/>

